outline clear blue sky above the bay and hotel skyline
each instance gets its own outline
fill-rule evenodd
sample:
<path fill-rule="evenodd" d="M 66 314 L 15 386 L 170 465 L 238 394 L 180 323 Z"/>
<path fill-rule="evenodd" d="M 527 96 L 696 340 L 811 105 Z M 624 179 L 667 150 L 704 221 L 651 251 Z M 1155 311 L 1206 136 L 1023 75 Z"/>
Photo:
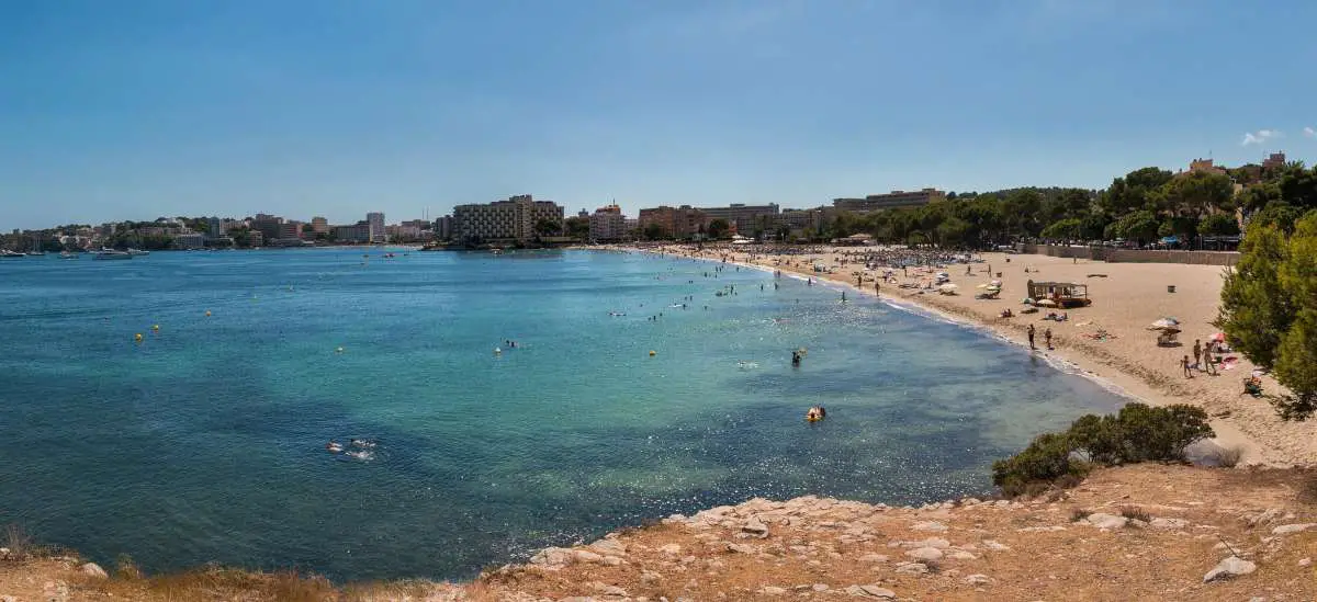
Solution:
<path fill-rule="evenodd" d="M 1312 163 L 1314 22 L 1305 1 L 14 0 L 0 227 Z"/>

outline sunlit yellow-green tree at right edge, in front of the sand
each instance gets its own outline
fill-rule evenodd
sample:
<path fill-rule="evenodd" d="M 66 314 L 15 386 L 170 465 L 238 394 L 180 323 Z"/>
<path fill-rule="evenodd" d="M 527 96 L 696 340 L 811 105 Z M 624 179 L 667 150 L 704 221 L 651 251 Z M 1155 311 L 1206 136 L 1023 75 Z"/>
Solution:
<path fill-rule="evenodd" d="M 1226 273 L 1217 325 L 1252 363 L 1272 369 L 1292 394 L 1271 396 L 1285 419 L 1317 411 L 1317 210 L 1285 235 L 1254 223 Z"/>

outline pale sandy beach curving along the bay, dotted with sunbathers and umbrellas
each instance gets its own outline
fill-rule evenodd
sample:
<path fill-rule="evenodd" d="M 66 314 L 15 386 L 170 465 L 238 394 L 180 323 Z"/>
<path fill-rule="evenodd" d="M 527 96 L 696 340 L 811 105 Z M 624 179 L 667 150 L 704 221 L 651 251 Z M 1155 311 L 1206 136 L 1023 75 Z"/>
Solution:
<path fill-rule="evenodd" d="M 865 252 L 865 247 L 810 247 L 814 252 L 797 255 L 759 254 L 730 247 L 697 250 L 685 244 L 639 250 L 781 269 L 832 285 L 851 287 L 864 294 L 874 294 L 874 277 L 882 275 L 881 271 L 864 269 L 859 254 Z M 1218 330 L 1212 326 L 1212 321 L 1217 317 L 1221 297 L 1221 267 L 1109 264 L 996 252 L 976 256 L 981 256 L 984 263 L 969 264 L 968 275 L 964 264 L 951 264 L 944 269 L 910 268 L 907 275 L 897 269 L 897 283 L 881 283 L 878 294 L 888 301 L 917 305 L 964 323 L 989 327 L 1018 344 L 1027 344 L 1026 329 L 1034 325 L 1036 354 L 1050 360 L 1068 363 L 1148 404 L 1192 404 L 1204 407 L 1213 417 L 1216 443 L 1239 447 L 1243 463 L 1277 467 L 1317 464 L 1317 423 L 1281 421 L 1266 400 L 1243 394 L 1243 379 L 1252 372 L 1254 365 L 1242 355 L 1226 354 L 1238 360 L 1231 369 L 1218 371 L 1216 376 L 1202 371 L 1195 371 L 1192 377 L 1184 376 L 1180 360 L 1189 355 L 1192 361 L 1195 339 L 1206 342 Z M 815 264 L 827 266 L 831 271 L 817 273 Z M 951 281 L 959 287 L 957 294 L 900 288 L 901 284 L 922 284 L 935 271 L 948 272 Z M 857 283 L 857 277 L 863 277 L 863 283 Z M 1001 280 L 998 298 L 975 298 L 975 293 L 980 290 L 977 287 L 990 280 Z M 1064 322 L 1042 319 L 1051 312 L 1046 309 L 1036 314 L 1021 314 L 1026 308 L 1021 300 L 1027 296 L 1029 280 L 1087 284 L 1093 304 L 1088 308 L 1055 310 L 1068 313 Z M 1167 290 L 1168 285 L 1175 287 L 1173 293 Z M 1015 315 L 1000 317 L 1008 308 Z M 1156 344 L 1156 333 L 1147 330 L 1147 326 L 1162 317 L 1180 321 L 1184 330 L 1179 336 L 1181 347 Z M 1047 329 L 1052 333 L 1051 350 L 1046 348 L 1043 336 Z M 1105 336 L 1094 336 L 1100 333 L 1105 333 Z M 1262 380 L 1267 393 L 1283 390 L 1272 379 L 1263 376 Z"/>

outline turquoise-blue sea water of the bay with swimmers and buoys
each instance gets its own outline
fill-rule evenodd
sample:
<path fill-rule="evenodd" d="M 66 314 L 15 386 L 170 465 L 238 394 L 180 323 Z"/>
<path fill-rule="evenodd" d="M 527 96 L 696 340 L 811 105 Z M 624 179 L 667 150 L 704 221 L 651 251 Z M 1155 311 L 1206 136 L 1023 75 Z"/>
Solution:
<path fill-rule="evenodd" d="M 993 459 L 1121 402 L 763 271 L 365 252 L 0 262 L 0 523 L 148 570 L 460 578 L 755 496 L 981 493 Z M 325 450 L 349 438 L 374 457 Z"/>

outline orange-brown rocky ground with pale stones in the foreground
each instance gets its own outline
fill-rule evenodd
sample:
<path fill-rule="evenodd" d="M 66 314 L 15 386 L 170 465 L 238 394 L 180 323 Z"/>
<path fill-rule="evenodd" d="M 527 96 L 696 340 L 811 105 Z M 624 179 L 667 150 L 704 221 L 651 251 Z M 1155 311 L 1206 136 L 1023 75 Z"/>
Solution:
<path fill-rule="evenodd" d="M 1313 601 L 1314 556 L 1313 472 L 1146 464 L 1027 501 L 751 499 L 544 549 L 471 584 L 295 589 L 212 572 L 165 588 L 171 577 L 53 559 L 0 563 L 0 599 Z"/>

